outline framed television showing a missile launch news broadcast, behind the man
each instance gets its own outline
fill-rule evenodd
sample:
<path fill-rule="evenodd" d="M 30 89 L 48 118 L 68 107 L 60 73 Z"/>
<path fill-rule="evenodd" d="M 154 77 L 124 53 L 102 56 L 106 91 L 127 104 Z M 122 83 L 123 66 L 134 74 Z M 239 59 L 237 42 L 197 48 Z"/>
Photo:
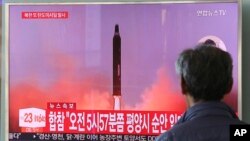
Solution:
<path fill-rule="evenodd" d="M 4 140 L 154 140 L 186 110 L 179 53 L 207 39 L 232 55 L 225 102 L 241 117 L 237 0 L 6 0 L 3 8 Z"/>

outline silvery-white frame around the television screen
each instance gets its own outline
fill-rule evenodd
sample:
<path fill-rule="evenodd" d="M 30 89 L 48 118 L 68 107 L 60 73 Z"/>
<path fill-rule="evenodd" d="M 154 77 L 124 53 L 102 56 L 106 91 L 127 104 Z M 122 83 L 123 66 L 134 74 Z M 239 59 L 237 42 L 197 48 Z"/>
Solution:
<path fill-rule="evenodd" d="M 1 49 L 1 139 L 8 140 L 9 134 L 9 7 L 12 5 L 78 5 L 78 4 L 177 4 L 177 3 L 237 3 L 238 4 L 238 116 L 242 119 L 242 4 L 240 0 L 6 0 L 3 3 L 2 49 Z"/>

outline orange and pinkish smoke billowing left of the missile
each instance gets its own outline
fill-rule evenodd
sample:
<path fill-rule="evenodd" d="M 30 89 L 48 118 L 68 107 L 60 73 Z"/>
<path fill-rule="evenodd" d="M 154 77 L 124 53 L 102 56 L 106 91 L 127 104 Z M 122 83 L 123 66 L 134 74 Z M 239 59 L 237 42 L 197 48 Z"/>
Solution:
<path fill-rule="evenodd" d="M 47 102 L 75 102 L 81 110 L 111 110 L 113 98 L 107 88 L 108 79 L 101 74 L 77 78 L 77 61 L 71 56 L 58 52 L 49 58 L 50 67 L 59 75 L 55 82 L 43 87 L 34 73 L 25 82 L 10 85 L 10 132 L 20 132 L 19 109 L 46 109 Z M 64 60 L 61 62 L 60 60 Z M 51 63 L 52 62 L 52 63 Z"/>

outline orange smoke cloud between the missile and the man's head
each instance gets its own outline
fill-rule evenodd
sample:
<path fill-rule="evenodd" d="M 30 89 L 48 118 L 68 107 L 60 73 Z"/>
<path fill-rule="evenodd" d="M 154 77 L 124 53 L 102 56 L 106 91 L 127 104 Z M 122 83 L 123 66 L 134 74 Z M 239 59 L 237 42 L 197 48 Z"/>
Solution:
<path fill-rule="evenodd" d="M 167 75 L 166 68 L 162 67 L 157 72 L 157 80 L 141 95 L 142 102 L 132 109 L 150 111 L 179 111 L 186 109 L 184 97 L 174 89 L 174 84 Z M 131 107 L 127 107 L 131 109 Z"/>

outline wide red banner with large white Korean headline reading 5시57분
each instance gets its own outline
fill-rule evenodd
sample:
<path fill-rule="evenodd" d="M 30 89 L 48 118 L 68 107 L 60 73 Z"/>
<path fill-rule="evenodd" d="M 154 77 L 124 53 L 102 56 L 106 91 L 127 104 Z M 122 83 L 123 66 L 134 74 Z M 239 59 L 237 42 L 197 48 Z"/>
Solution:
<path fill-rule="evenodd" d="M 170 129 L 180 112 L 47 110 L 48 133 L 159 135 Z"/>

